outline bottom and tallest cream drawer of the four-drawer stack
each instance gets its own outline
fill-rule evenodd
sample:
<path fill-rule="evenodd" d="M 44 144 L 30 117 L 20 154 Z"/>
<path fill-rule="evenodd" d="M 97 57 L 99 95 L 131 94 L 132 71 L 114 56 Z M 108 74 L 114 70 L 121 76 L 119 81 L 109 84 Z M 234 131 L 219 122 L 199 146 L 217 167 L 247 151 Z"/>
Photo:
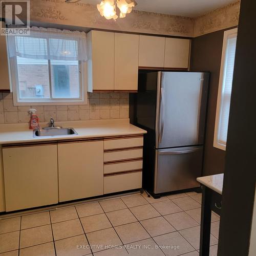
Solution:
<path fill-rule="evenodd" d="M 142 172 L 104 177 L 104 194 L 142 187 Z"/>

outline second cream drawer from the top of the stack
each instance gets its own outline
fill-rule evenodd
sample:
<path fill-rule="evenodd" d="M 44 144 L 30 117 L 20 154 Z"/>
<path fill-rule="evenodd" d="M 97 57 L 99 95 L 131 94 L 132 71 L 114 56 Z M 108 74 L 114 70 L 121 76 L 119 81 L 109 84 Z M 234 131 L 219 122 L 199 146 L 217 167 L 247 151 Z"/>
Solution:
<path fill-rule="evenodd" d="M 104 162 L 133 159 L 133 158 L 142 158 L 142 152 L 143 152 L 142 148 L 138 148 L 136 150 L 105 152 Z"/>

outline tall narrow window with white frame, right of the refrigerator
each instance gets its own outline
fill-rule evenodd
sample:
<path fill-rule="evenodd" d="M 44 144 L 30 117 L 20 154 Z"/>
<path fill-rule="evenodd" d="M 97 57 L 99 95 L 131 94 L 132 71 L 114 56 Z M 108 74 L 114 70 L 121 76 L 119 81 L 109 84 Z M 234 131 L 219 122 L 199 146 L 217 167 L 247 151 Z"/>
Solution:
<path fill-rule="evenodd" d="M 237 29 L 224 32 L 219 91 L 217 100 L 214 146 L 226 150 L 230 98 L 236 55 Z"/>

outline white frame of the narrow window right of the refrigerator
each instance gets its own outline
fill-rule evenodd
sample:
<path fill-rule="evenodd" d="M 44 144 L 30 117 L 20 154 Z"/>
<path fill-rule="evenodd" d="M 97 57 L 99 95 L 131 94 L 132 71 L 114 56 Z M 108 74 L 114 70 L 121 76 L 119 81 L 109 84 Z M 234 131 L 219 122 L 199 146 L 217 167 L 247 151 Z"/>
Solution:
<path fill-rule="evenodd" d="M 230 29 L 224 31 L 223 36 L 223 45 L 222 45 L 222 55 L 221 55 L 221 68 L 220 68 L 220 78 L 219 78 L 219 88 L 218 88 L 218 99 L 217 99 L 217 108 L 216 108 L 216 117 L 215 117 L 215 129 L 214 129 L 214 147 L 219 148 L 220 150 L 226 151 L 226 145 L 219 142 L 219 128 L 220 128 L 220 117 L 223 104 L 223 89 L 224 89 L 224 69 L 226 67 L 227 60 L 227 42 L 231 35 L 236 35 L 238 33 L 238 28 Z"/>

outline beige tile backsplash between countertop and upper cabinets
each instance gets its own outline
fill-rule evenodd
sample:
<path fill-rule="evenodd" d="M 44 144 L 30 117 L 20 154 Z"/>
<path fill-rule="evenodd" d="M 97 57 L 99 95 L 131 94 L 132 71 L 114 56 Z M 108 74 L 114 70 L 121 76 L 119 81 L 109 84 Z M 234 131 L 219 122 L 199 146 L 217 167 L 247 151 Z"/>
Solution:
<path fill-rule="evenodd" d="M 87 105 L 14 106 L 12 93 L 0 93 L 0 123 L 28 123 L 36 109 L 39 122 L 129 118 L 129 93 L 88 93 Z"/>

